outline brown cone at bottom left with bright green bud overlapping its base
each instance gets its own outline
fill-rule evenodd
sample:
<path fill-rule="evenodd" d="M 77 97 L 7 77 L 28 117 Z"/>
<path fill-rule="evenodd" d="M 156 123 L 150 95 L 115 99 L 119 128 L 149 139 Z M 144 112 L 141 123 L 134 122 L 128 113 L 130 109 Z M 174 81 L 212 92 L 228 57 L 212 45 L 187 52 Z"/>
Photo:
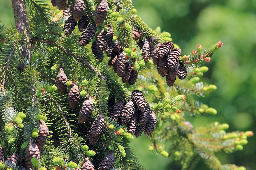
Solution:
<path fill-rule="evenodd" d="M 32 162 L 30 161 L 32 158 L 36 158 L 38 162 L 40 162 L 40 151 L 32 138 L 29 139 L 29 144 L 25 150 L 25 154 L 27 170 L 32 168 Z"/>

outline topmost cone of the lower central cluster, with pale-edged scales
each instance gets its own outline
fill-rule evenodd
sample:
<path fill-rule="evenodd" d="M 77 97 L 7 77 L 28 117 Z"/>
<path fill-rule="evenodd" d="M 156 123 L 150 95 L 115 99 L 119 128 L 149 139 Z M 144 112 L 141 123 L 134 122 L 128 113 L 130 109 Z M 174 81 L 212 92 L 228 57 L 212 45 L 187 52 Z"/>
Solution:
<path fill-rule="evenodd" d="M 136 105 L 139 111 L 144 112 L 147 102 L 141 91 L 139 90 L 132 91 L 132 101 Z"/>

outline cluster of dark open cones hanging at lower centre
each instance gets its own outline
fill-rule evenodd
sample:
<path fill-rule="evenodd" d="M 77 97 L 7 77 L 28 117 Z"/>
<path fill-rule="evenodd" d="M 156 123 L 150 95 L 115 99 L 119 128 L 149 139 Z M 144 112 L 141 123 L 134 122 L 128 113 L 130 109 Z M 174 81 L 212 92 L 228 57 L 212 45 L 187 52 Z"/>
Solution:
<path fill-rule="evenodd" d="M 120 124 L 126 125 L 128 132 L 135 134 L 136 137 L 139 137 L 143 130 L 144 134 L 149 136 L 155 129 L 155 113 L 150 111 L 149 104 L 139 90 L 132 91 L 132 100 L 126 104 L 117 101 L 115 104 L 110 104 L 110 107 L 109 116 Z"/>

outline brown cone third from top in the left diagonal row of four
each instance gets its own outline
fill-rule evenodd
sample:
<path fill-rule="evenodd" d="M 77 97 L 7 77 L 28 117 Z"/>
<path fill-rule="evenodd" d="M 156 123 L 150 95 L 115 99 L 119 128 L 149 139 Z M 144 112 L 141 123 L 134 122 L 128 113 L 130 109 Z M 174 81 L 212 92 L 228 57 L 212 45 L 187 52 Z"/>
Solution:
<path fill-rule="evenodd" d="M 92 98 L 89 97 L 87 100 L 83 102 L 81 106 L 81 109 L 79 111 L 79 116 L 78 116 L 78 122 L 79 123 L 87 122 L 92 115 L 92 109 L 93 109 L 93 101 L 92 101 Z"/>

